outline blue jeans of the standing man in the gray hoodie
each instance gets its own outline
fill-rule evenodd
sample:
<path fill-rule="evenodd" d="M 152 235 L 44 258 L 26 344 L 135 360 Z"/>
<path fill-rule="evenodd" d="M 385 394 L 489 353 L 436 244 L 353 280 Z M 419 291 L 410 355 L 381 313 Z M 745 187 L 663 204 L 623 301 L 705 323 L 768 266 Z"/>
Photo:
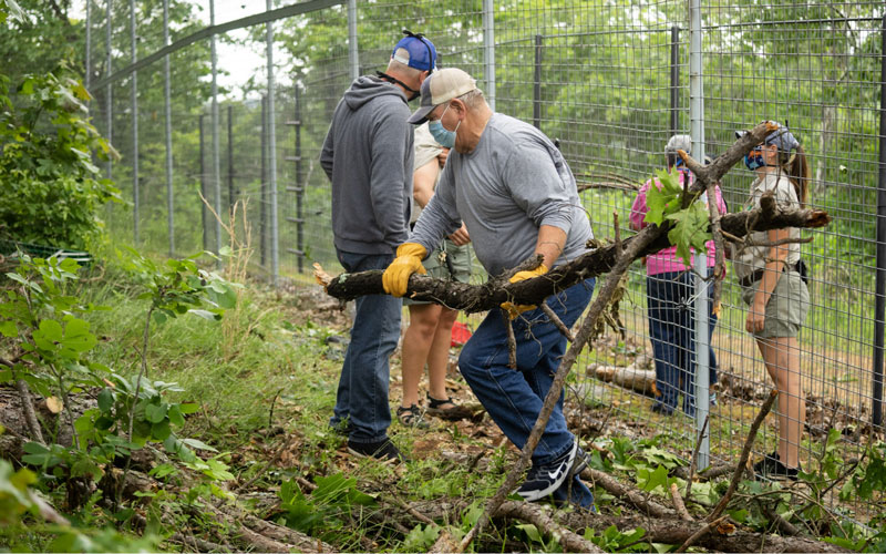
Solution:
<path fill-rule="evenodd" d="M 384 269 L 393 261 L 390 255 L 354 254 L 336 249 L 348 273 Z M 388 403 L 389 358 L 400 339 L 402 300 L 388 295 L 357 299 L 351 341 L 344 353 L 336 393 L 336 409 L 329 423 L 349 425 L 353 442 L 377 442 L 388 437 L 391 408 Z"/>

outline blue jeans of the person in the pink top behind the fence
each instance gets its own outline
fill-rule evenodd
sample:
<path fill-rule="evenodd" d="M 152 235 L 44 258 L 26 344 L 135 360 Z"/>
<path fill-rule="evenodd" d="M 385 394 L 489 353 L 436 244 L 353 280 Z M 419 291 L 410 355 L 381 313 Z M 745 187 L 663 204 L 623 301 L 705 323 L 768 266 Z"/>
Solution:
<path fill-rule="evenodd" d="M 710 273 L 710 271 L 709 271 Z M 669 410 L 677 408 L 683 394 L 683 412 L 696 413 L 696 317 L 693 298 L 694 274 L 670 271 L 650 275 L 646 279 L 649 308 L 649 336 L 656 357 L 657 403 Z M 713 285 L 708 286 L 708 299 L 713 308 Z M 708 343 L 717 327 L 717 316 L 708 312 Z M 710 384 L 717 382 L 717 356 L 709 352 Z"/>

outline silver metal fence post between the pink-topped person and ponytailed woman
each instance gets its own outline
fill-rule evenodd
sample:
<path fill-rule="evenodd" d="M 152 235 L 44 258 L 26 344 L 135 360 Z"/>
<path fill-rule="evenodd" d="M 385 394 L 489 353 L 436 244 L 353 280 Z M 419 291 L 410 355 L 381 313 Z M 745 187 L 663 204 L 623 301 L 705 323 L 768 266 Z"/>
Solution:
<path fill-rule="evenodd" d="M 703 59 L 701 51 L 701 0 L 690 0 L 689 3 L 689 119 L 692 133 L 692 156 L 704 160 L 704 86 L 703 86 Z M 717 202 L 709 198 L 709 202 Z M 710 465 L 711 445 L 710 431 L 705 421 L 710 411 L 709 398 L 709 338 L 708 338 L 708 255 L 707 252 L 696 253 L 696 430 L 702 433 L 697 466 L 703 470 Z"/>

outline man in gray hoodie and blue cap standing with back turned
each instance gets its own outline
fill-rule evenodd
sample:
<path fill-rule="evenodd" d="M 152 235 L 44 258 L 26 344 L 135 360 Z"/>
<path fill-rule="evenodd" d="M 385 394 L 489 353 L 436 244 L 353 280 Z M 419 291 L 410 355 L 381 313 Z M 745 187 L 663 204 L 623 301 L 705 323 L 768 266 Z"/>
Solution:
<path fill-rule="evenodd" d="M 336 253 L 349 273 L 384 269 L 409 237 L 412 207 L 412 127 L 408 102 L 434 70 L 436 49 L 406 34 L 385 72 L 360 76 L 332 115 L 320 165 L 332 182 Z M 388 438 L 389 357 L 400 337 L 402 301 L 388 295 L 357 300 L 330 424 L 348 433 L 357 455 L 400 461 Z"/>

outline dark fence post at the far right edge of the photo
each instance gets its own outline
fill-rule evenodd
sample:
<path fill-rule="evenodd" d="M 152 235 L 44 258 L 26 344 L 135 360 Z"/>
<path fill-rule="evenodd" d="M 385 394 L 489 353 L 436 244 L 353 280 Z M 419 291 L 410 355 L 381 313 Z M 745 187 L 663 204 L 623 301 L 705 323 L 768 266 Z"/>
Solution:
<path fill-rule="evenodd" d="M 880 30 L 879 70 L 879 177 L 877 187 L 877 290 L 874 316 L 874 390 L 870 413 L 883 424 L 883 332 L 886 318 L 886 16 Z"/>

